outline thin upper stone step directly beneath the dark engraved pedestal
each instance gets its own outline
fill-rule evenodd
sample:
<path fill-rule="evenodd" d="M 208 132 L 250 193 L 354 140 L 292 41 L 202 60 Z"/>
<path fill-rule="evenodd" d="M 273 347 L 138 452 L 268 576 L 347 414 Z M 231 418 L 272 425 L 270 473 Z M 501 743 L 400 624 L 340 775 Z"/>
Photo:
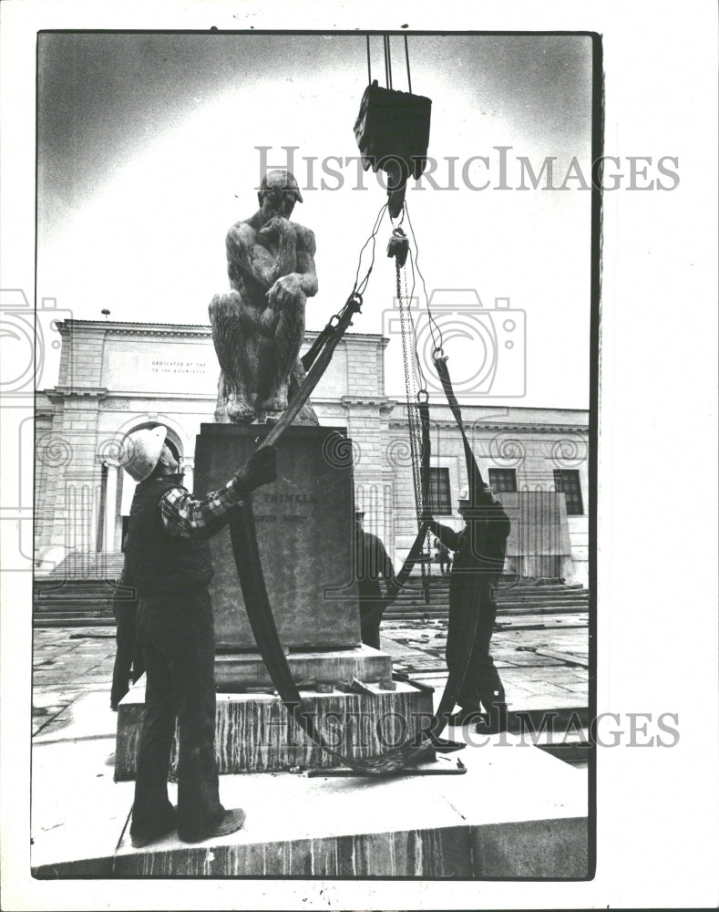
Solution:
<path fill-rule="evenodd" d="M 354 649 L 289 650 L 287 663 L 296 684 L 312 679 L 318 684 L 336 684 L 353 678 L 376 683 L 392 680 L 392 657 L 364 644 Z M 259 652 L 218 653 L 215 686 L 222 693 L 236 693 L 248 687 L 273 689 Z"/>

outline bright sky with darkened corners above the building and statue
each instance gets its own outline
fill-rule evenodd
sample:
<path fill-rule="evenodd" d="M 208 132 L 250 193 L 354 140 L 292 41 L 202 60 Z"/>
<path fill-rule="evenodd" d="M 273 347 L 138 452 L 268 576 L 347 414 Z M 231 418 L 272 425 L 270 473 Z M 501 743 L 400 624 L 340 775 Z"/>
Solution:
<path fill-rule="evenodd" d="M 394 87 L 404 90 L 404 41 L 392 41 Z M 382 85 L 381 36 L 371 47 Z M 523 399 L 501 395 L 518 387 L 523 342 L 514 336 L 508 352 L 504 321 L 485 318 L 498 333 L 496 396 L 488 402 L 587 408 L 591 193 L 579 180 L 563 192 L 516 188 L 519 156 L 534 171 L 555 157 L 555 185 L 573 157 L 590 177 L 590 39 L 410 35 L 409 52 L 413 91 L 433 102 L 429 155 L 440 187 L 451 183 L 448 160 L 456 162 L 454 189 L 423 180 L 407 192 L 427 291 L 474 289 L 488 310 L 500 297 L 526 314 Z M 385 201 L 371 172 L 358 180 L 357 162 L 345 163 L 358 154 L 365 36 L 45 34 L 38 61 L 38 299 L 56 297 L 79 318 L 101 319 L 106 307 L 114 320 L 207 324 L 211 296 L 228 287 L 225 233 L 256 209 L 257 147 L 271 147 L 273 166 L 286 162 L 282 146 L 292 145 L 304 197 L 293 220 L 317 240 L 320 290 L 307 305 L 308 328 L 321 328 L 342 306 Z M 499 146 L 512 147 L 512 189 L 498 189 Z M 328 156 L 343 161 L 326 165 L 334 174 L 324 171 Z M 486 156 L 489 167 L 474 161 L 467 171 L 473 156 Z M 472 190 L 463 171 L 490 186 Z M 385 218 L 353 331 L 388 331 L 390 229 Z M 477 372 L 467 365 L 486 350 L 461 306 L 443 313 L 461 387 Z M 521 315 L 515 323 L 520 330 Z M 401 346 L 391 338 L 387 387 L 397 394 Z"/>

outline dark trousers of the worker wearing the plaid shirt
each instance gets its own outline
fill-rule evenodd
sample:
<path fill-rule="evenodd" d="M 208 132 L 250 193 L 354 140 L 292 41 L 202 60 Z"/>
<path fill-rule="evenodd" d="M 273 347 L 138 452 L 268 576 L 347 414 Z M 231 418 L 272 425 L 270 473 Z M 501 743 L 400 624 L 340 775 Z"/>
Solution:
<path fill-rule="evenodd" d="M 147 671 L 130 832 L 168 827 L 169 756 L 178 722 L 178 834 L 206 834 L 224 814 L 215 760 L 215 640 L 206 589 L 140 596 L 138 637 Z"/>

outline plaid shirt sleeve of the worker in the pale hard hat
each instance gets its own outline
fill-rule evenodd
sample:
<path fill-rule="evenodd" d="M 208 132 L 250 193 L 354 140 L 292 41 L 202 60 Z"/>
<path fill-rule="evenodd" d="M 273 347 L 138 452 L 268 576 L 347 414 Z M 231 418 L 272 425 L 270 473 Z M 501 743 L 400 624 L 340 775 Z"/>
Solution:
<path fill-rule="evenodd" d="M 162 524 L 173 538 L 211 538 L 230 522 L 232 511 L 243 503 L 244 494 L 234 478 L 200 501 L 178 484 L 159 500 Z"/>

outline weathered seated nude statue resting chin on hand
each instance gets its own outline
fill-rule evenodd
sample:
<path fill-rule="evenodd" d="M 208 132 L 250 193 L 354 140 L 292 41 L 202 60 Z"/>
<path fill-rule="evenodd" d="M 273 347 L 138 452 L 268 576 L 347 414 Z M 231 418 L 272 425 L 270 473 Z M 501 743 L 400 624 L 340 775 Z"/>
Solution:
<path fill-rule="evenodd" d="M 231 291 L 210 305 L 221 369 L 215 420 L 225 423 L 264 423 L 287 408 L 304 378 L 305 301 L 317 294 L 314 234 L 290 222 L 303 202 L 297 181 L 268 171 L 257 198 L 260 209 L 227 233 Z M 318 423 L 309 401 L 294 423 Z"/>

